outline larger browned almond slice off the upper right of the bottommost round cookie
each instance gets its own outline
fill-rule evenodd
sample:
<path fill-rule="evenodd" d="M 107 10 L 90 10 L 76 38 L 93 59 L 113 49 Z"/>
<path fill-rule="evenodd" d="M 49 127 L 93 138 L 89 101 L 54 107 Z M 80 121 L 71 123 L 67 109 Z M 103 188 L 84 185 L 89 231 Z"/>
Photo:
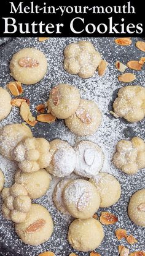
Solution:
<path fill-rule="evenodd" d="M 109 213 L 108 211 L 103 211 L 100 216 L 100 222 L 105 225 L 114 224 L 118 221 L 118 217 Z"/>

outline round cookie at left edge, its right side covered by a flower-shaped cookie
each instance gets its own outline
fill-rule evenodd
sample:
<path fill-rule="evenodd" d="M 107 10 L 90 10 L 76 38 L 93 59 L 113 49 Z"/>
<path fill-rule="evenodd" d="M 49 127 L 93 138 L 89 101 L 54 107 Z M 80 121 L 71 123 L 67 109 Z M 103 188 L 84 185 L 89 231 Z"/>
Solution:
<path fill-rule="evenodd" d="M 25 124 L 8 124 L 0 129 L 0 153 L 13 160 L 12 150 L 26 137 L 32 137 L 32 132 Z"/>

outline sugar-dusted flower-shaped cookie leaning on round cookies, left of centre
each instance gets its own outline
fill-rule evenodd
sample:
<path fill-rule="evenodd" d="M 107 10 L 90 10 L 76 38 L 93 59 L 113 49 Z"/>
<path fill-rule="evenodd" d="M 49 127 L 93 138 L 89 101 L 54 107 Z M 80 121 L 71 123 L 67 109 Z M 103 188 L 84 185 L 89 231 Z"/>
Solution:
<path fill-rule="evenodd" d="M 49 142 L 43 138 L 26 138 L 12 151 L 12 157 L 18 161 L 18 167 L 25 173 L 47 168 L 51 161 Z"/>

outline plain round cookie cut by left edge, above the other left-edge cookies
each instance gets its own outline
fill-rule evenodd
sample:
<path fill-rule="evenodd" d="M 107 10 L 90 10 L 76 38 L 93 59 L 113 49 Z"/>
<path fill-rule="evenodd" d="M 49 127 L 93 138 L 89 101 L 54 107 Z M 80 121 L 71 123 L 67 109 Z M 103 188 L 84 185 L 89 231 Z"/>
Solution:
<path fill-rule="evenodd" d="M 11 100 L 9 92 L 0 87 L 0 121 L 9 115 L 12 108 L 12 105 L 10 104 Z"/>

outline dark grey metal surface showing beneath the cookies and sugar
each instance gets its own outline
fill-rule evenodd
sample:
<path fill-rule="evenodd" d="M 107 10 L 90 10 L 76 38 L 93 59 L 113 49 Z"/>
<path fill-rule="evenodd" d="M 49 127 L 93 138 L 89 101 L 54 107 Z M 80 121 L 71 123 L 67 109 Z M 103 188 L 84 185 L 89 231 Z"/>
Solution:
<path fill-rule="evenodd" d="M 83 38 L 84 39 L 84 38 Z M 88 39 L 88 38 L 87 38 Z M 41 49 L 46 55 L 49 62 L 49 70 L 45 78 L 40 82 L 37 83 L 34 86 L 26 87 L 25 86 L 25 92 L 24 96 L 31 99 L 31 106 L 33 108 L 38 103 L 42 103 L 42 101 L 46 101 L 49 95 L 50 88 L 53 87 L 53 85 L 60 83 L 60 82 L 68 82 L 70 84 L 75 84 L 80 90 L 82 90 L 82 96 L 84 96 L 83 89 L 85 87 L 88 87 L 89 84 L 92 85 L 92 83 L 95 86 L 95 83 L 97 84 L 98 81 L 98 75 L 96 75 L 95 78 L 84 80 L 84 84 L 82 83 L 82 79 L 76 76 L 69 75 L 65 70 L 63 70 L 63 49 L 65 48 L 68 43 L 71 41 L 77 41 L 82 40 L 82 38 L 51 38 L 50 41 L 48 41 L 48 47 L 45 47 L 45 43 L 39 43 L 36 38 L 8 38 L 8 40 L 0 41 L 0 82 L 2 86 L 5 86 L 7 82 L 12 80 L 9 75 L 9 61 L 12 58 L 12 54 L 14 54 L 19 49 L 22 49 L 24 47 L 36 47 Z M 127 62 L 130 59 L 139 59 L 139 57 L 144 56 L 141 51 L 138 51 L 135 46 L 131 46 L 131 48 L 128 51 L 128 48 L 122 48 L 122 50 L 118 47 L 114 46 L 114 40 L 113 38 L 89 38 L 89 40 L 92 41 L 92 43 L 96 44 L 98 46 L 98 49 L 103 54 L 104 58 L 109 62 L 110 66 L 108 67 L 109 72 L 113 71 L 113 65 L 114 62 L 117 60 L 121 60 L 124 63 Z M 135 45 L 135 42 L 137 41 L 137 38 L 133 38 L 133 45 Z M 144 85 L 144 69 L 143 71 L 134 72 L 138 79 L 133 84 L 140 84 Z M 108 76 L 109 77 L 109 76 Z M 111 81 L 108 80 L 110 83 L 110 89 L 111 89 Z M 106 83 L 106 80 L 104 79 L 104 83 Z M 92 85 L 93 86 L 93 85 Z M 104 84 L 105 86 L 105 84 Z M 112 109 L 112 102 L 117 96 L 117 92 L 120 87 L 124 86 L 124 84 L 120 84 L 116 82 L 116 88 L 114 88 L 112 93 L 112 98 L 108 104 L 108 109 Z M 83 88 L 84 87 L 84 88 Z M 111 89 L 112 90 L 112 89 Z M 88 90 L 89 91 L 89 90 Z M 98 91 L 99 93 L 101 92 Z M 106 92 L 107 95 L 108 92 Z M 103 95 L 104 98 L 107 97 L 106 95 Z M 93 96 L 92 91 L 90 91 L 90 95 L 88 95 L 88 98 L 91 98 Z M 98 98 L 100 95 L 97 95 Z M 104 119 L 108 118 L 110 121 L 114 122 L 114 117 L 112 117 L 109 114 L 108 109 L 104 111 Z M 17 112 L 18 113 L 18 112 Z M 35 113 L 36 114 L 36 113 Z M 18 114 L 17 114 L 18 115 Z M 12 121 L 9 117 L 8 122 Z M 14 122 L 20 122 L 20 116 L 16 116 L 14 114 Z M 3 122 L 3 125 L 6 124 Z M 39 123 L 35 128 L 33 128 L 33 134 L 36 137 L 45 137 L 48 140 L 65 138 L 65 132 L 68 132 L 68 130 L 65 128 L 61 129 L 60 127 L 64 126 L 63 121 L 57 121 L 56 124 L 42 124 Z M 135 135 L 141 135 L 142 138 L 145 139 L 144 134 L 144 121 L 138 122 L 137 124 L 129 124 L 124 119 L 120 119 L 117 121 L 116 129 L 118 130 L 118 127 L 121 127 L 120 132 L 122 134 L 117 135 L 116 141 L 123 137 L 123 138 L 131 138 Z M 101 128 L 103 129 L 103 128 Z M 108 127 L 109 129 L 109 127 Z M 62 135 L 62 133 L 64 134 Z M 103 132 L 103 130 L 102 130 Z M 116 130 L 113 130 L 114 136 L 116 135 Z M 71 134 L 71 133 L 70 133 Z M 104 137 L 106 136 L 106 139 L 104 139 L 104 142 L 106 140 L 109 140 L 109 135 L 104 131 Z M 103 140 L 103 137 L 101 137 Z M 99 138 L 97 138 L 99 140 Z M 107 145 L 108 142 L 106 142 Z M 108 143 L 109 144 L 109 143 Z M 107 147 L 107 146 L 106 146 Z M 109 147 L 109 145 L 108 145 Z M 111 168 L 114 168 L 111 166 Z M 113 173 L 113 172 L 112 172 Z M 134 247 L 131 247 L 128 245 L 125 241 L 123 241 L 124 245 L 127 245 L 130 249 L 144 249 L 144 228 L 140 228 L 136 226 L 135 224 L 131 223 L 127 216 L 127 205 L 128 200 L 130 196 L 138 189 L 141 189 L 144 187 L 145 184 L 145 177 L 144 177 L 144 171 L 139 172 L 135 176 L 125 176 L 125 174 L 122 174 L 120 171 L 116 170 L 114 168 L 114 175 L 119 179 L 121 185 L 122 185 L 122 197 L 120 198 L 119 202 L 116 203 L 116 205 L 113 205 L 112 207 L 109 207 L 105 209 L 106 211 L 109 210 L 112 213 L 119 216 L 119 223 L 116 225 L 111 226 L 104 226 L 104 233 L 105 238 L 101 246 L 98 248 L 98 252 L 100 252 L 101 256 L 117 256 L 118 250 L 117 245 L 119 245 L 119 241 L 116 240 L 116 237 L 114 236 L 114 230 L 116 228 L 126 228 L 128 230 L 128 233 L 133 233 L 136 237 L 138 237 L 138 244 Z M 47 196 L 44 196 L 37 200 L 37 202 L 41 203 L 42 205 L 47 205 Z M 66 223 L 64 217 L 61 215 L 58 215 L 57 210 L 55 208 L 51 207 L 50 204 L 47 205 L 47 207 L 50 210 L 50 213 L 52 214 L 53 221 L 55 223 L 55 229 L 52 238 L 49 242 L 45 243 L 44 245 L 38 246 L 34 249 L 34 247 L 24 245 L 21 241 L 18 240 L 18 237 L 15 234 L 13 224 L 10 223 L 10 221 L 4 220 L 2 216 L 0 216 L 0 238 L 1 238 L 1 246 L 0 246 L 0 252 L 2 255 L 7 256 L 36 256 L 40 252 L 44 252 L 45 250 L 52 250 L 55 252 L 56 256 L 68 256 L 69 253 L 72 250 L 71 247 L 68 245 L 68 241 L 66 239 L 67 232 L 68 232 L 68 223 Z M 98 211 L 100 213 L 102 209 Z M 77 252 L 77 255 L 79 256 L 87 256 L 88 253 L 81 253 Z"/>

